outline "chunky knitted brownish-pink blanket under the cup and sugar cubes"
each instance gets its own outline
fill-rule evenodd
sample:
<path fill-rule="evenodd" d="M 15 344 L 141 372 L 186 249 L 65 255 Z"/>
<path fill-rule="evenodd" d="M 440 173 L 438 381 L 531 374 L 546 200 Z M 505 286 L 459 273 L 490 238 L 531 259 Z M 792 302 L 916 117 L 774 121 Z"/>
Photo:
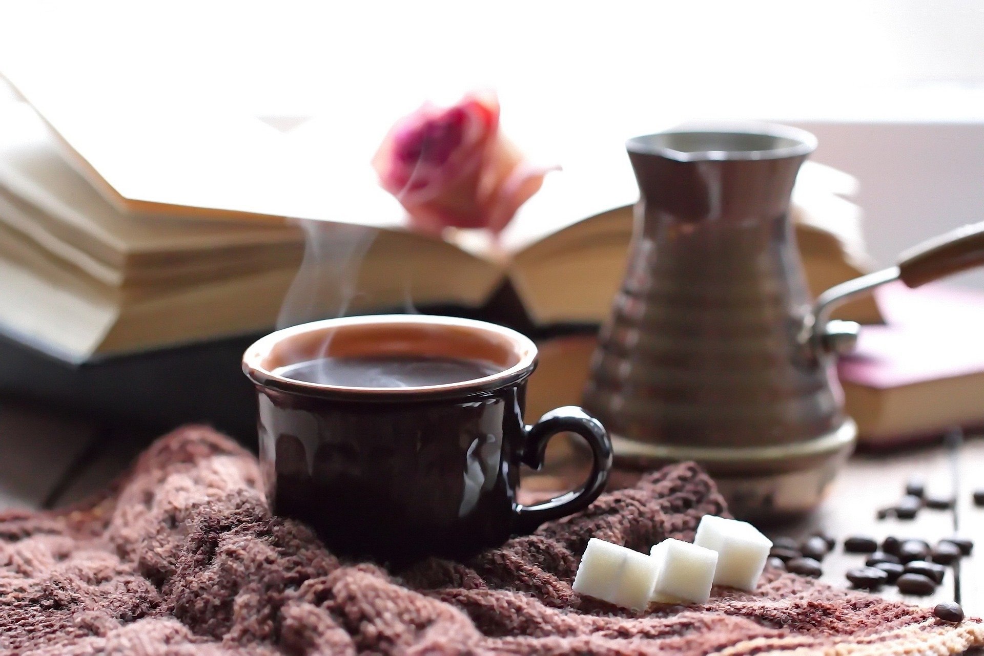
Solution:
<path fill-rule="evenodd" d="M 608 493 L 466 564 L 400 575 L 339 562 L 272 517 L 255 458 L 185 428 L 114 490 L 71 511 L 0 517 L 0 653 L 958 653 L 977 620 L 769 570 L 754 594 L 630 613 L 571 582 L 587 539 L 647 550 L 722 511 L 692 464 Z"/>

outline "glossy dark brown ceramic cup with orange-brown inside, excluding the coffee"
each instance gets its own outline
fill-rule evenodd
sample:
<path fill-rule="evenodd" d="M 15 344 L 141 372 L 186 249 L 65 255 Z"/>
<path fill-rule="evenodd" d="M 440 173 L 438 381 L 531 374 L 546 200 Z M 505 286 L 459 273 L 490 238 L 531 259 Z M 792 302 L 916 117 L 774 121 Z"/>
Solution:
<path fill-rule="evenodd" d="M 318 357 L 478 359 L 498 372 L 420 388 L 350 388 L 277 375 Z M 303 520 L 336 553 L 407 563 L 463 558 L 575 512 L 601 493 L 612 451 L 578 407 L 523 424 L 536 346 L 483 322 L 394 315 L 278 330 L 253 344 L 243 371 L 260 398 L 260 459 L 271 506 Z M 538 469 L 551 436 L 581 435 L 593 453 L 578 490 L 517 503 L 520 464 Z"/>

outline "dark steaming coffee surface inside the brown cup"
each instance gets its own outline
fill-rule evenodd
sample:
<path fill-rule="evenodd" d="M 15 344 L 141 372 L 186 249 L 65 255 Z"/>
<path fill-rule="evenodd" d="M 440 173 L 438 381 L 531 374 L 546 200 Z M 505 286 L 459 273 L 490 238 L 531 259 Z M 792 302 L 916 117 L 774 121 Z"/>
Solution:
<path fill-rule="evenodd" d="M 348 388 L 423 388 L 490 376 L 502 367 L 484 360 L 429 356 L 318 358 L 278 367 L 284 378 Z"/>

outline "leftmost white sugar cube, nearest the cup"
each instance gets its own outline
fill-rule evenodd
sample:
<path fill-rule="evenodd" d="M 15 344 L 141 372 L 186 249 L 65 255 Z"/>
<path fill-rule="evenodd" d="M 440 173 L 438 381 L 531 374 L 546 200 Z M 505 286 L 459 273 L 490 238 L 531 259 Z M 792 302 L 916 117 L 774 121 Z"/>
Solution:
<path fill-rule="evenodd" d="M 591 538 L 574 577 L 581 594 L 637 611 L 646 609 L 656 581 L 656 561 L 647 554 Z"/>

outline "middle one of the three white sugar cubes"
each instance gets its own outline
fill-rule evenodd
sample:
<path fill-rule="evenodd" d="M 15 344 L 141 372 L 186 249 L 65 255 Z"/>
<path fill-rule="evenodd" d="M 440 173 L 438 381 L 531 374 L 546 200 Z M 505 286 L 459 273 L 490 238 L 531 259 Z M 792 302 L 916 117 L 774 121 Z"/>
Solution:
<path fill-rule="evenodd" d="M 649 555 L 659 566 L 652 601 L 707 602 L 717 567 L 717 552 L 669 538 L 653 546 Z"/>

